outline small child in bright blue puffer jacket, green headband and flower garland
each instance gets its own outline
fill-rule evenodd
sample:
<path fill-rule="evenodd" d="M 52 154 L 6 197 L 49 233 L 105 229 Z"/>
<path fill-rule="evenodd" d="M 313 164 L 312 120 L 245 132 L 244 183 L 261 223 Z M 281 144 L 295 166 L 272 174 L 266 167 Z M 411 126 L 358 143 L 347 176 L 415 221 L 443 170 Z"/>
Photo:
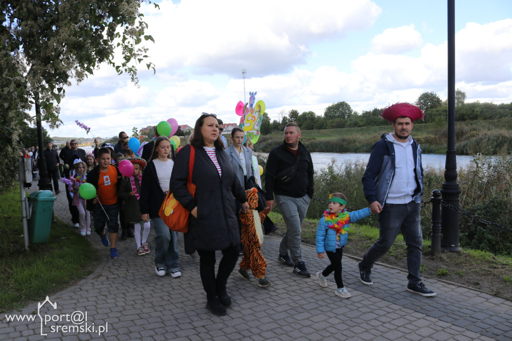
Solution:
<path fill-rule="evenodd" d="M 347 198 L 342 193 L 329 195 L 329 209 L 324 212 L 324 217 L 318 221 L 316 228 L 316 252 L 318 258 L 323 259 L 325 253 L 331 261 L 324 271 L 317 272 L 316 278 L 321 286 L 327 287 L 327 276 L 334 271 L 336 281 L 336 295 L 348 299 L 352 296 L 343 285 L 342 257 L 343 247 L 347 244 L 350 223 L 370 216 L 370 208 L 363 208 L 354 212 L 346 212 Z"/>

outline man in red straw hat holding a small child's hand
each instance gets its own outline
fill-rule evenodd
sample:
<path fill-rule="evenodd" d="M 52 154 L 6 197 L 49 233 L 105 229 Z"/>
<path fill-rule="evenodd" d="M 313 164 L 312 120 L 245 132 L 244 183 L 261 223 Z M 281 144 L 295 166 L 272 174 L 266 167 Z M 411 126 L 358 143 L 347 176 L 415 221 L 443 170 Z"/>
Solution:
<path fill-rule="evenodd" d="M 402 232 L 407 245 L 407 290 L 422 296 L 435 296 L 421 282 L 423 237 L 420 226 L 423 168 L 421 149 L 411 137 L 413 122 L 423 119 L 423 112 L 416 105 L 396 103 L 382 112 L 390 121 L 393 132 L 383 134 L 372 147 L 362 184 L 372 213 L 378 214 L 379 239 L 368 249 L 359 262 L 359 276 L 363 284 L 373 284 L 370 279 L 373 264 L 393 245 Z"/>

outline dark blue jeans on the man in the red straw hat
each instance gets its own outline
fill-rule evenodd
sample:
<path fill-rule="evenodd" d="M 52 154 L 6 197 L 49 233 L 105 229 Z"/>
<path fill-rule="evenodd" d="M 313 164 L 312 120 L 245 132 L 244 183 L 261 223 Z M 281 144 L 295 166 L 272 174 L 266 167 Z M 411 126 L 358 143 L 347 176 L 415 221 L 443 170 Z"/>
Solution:
<path fill-rule="evenodd" d="M 378 261 L 393 245 L 393 242 L 401 231 L 403 240 L 407 245 L 407 279 L 411 284 L 421 282 L 419 268 L 421 266 L 421 254 L 423 252 L 423 236 L 420 225 L 421 204 L 411 201 L 408 204 L 388 204 L 382 208 L 378 215 L 379 239 L 370 246 L 365 257 L 360 263 L 361 270 L 368 270 L 373 263 Z"/>

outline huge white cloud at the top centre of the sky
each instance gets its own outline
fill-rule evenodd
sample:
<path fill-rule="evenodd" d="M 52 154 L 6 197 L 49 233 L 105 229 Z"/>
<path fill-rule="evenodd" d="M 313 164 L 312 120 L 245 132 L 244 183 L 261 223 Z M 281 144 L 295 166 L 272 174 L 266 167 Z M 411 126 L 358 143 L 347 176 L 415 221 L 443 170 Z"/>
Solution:
<path fill-rule="evenodd" d="M 305 62 L 312 42 L 371 27 L 381 9 L 373 2 L 163 1 L 143 12 L 156 45 L 157 68 L 191 68 L 202 74 L 262 76 L 290 71 Z"/>

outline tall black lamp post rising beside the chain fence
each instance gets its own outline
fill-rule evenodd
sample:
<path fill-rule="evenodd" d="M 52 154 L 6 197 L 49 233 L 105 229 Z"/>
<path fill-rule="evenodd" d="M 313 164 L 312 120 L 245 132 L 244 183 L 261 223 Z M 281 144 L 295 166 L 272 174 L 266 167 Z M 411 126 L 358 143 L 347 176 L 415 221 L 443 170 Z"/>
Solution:
<path fill-rule="evenodd" d="M 448 0 L 448 145 L 441 186 L 442 200 L 459 207 L 460 188 L 457 183 L 457 158 L 455 151 L 455 0 Z M 441 206 L 441 248 L 460 251 L 459 215 L 456 211 Z"/>

